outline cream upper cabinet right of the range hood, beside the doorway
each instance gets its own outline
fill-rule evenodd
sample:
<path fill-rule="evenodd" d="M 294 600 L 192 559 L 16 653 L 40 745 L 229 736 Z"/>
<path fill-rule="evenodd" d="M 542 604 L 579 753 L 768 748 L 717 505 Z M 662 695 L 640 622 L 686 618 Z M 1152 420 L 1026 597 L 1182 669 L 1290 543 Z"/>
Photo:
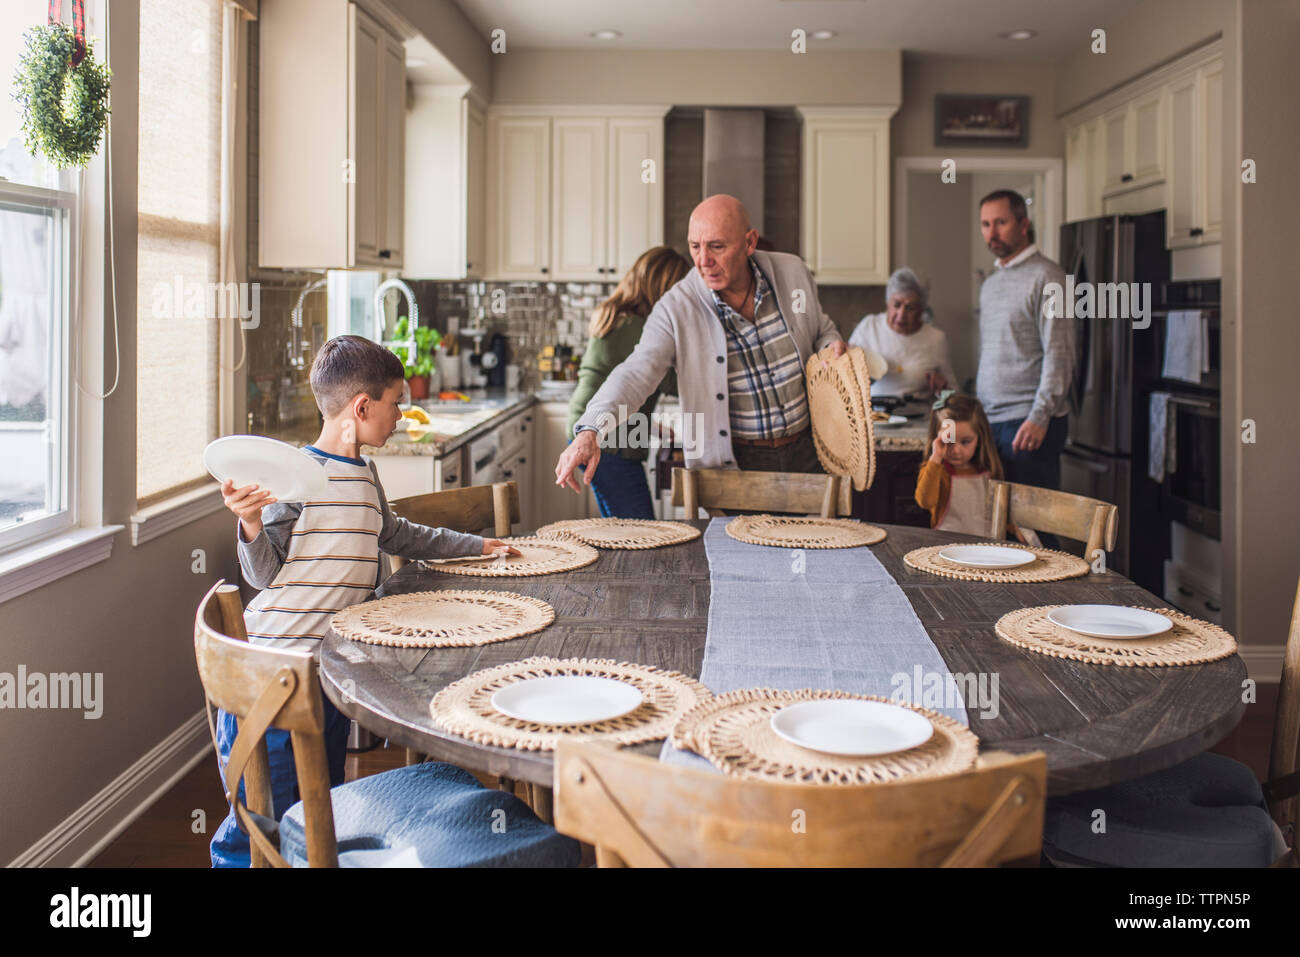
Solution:
<path fill-rule="evenodd" d="M 819 283 L 889 280 L 893 108 L 800 107 L 802 255 Z"/>

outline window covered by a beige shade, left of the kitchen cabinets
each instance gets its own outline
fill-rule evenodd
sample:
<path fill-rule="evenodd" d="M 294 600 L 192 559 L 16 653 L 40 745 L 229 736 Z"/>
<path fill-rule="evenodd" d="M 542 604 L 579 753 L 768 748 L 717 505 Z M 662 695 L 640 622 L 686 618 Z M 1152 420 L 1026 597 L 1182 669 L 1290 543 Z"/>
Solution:
<path fill-rule="evenodd" d="M 140 505 L 211 481 L 221 324 L 221 0 L 140 0 L 136 480 Z M 237 321 L 237 320 L 234 320 Z"/>

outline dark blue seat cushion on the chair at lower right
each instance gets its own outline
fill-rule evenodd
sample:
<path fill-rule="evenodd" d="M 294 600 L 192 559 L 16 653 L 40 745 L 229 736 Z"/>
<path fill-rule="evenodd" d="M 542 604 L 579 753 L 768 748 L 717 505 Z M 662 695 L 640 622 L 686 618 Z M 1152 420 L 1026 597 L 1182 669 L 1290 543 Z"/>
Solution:
<path fill-rule="evenodd" d="M 1093 832 L 1095 811 L 1105 832 Z M 1048 802 L 1048 857 L 1114 867 L 1266 867 L 1277 831 L 1264 792 L 1245 765 L 1197 754 L 1182 765 Z"/>

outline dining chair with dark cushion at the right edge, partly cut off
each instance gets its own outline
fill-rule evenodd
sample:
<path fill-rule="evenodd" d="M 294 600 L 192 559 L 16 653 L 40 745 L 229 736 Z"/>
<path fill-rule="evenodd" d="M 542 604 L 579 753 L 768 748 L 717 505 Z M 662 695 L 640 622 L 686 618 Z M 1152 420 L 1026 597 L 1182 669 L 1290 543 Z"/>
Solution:
<path fill-rule="evenodd" d="M 1044 853 L 1069 866 L 1300 867 L 1300 586 L 1282 659 L 1268 780 L 1204 752 L 1109 788 L 1056 798 Z M 1095 828 L 1096 811 L 1106 830 Z"/>

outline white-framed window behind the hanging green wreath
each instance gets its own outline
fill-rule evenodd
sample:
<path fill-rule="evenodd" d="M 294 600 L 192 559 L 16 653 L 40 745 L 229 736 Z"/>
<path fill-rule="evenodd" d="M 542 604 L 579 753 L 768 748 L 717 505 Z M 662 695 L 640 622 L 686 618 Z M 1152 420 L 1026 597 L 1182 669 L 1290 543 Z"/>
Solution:
<path fill-rule="evenodd" d="M 5 0 L 0 75 L 47 0 Z M 87 10 L 87 35 L 95 31 Z M 101 44 L 95 44 L 103 56 Z M 0 96 L 0 551 L 74 524 L 69 324 L 78 173 L 23 146 L 22 112 Z"/>

